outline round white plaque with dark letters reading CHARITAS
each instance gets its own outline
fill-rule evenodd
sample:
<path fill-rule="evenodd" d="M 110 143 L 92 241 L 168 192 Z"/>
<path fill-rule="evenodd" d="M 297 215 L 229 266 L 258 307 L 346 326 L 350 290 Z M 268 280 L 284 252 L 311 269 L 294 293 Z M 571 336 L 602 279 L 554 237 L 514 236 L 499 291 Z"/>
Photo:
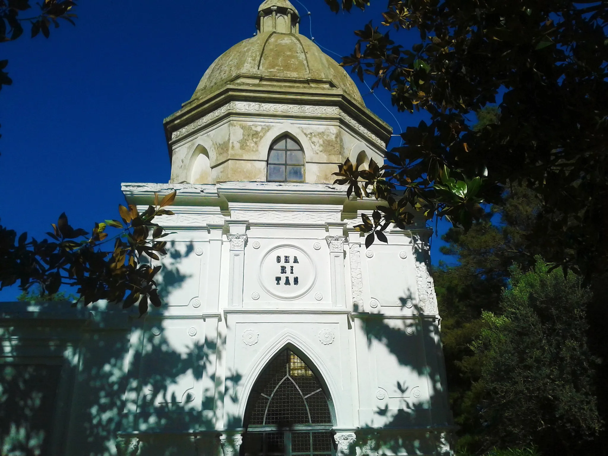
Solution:
<path fill-rule="evenodd" d="M 266 252 L 261 260 L 258 282 L 278 299 L 298 299 L 317 282 L 317 269 L 304 250 L 284 244 Z"/>

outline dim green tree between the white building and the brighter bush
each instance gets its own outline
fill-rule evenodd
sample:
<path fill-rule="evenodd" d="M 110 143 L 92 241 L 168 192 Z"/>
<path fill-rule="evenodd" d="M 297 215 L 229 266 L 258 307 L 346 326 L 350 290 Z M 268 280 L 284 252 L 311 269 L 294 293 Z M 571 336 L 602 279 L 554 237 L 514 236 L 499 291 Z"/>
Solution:
<path fill-rule="evenodd" d="M 536 193 L 513 185 L 502 207 L 492 207 L 471 230 L 450 229 L 441 247 L 456 266 L 440 264 L 434 271 L 440 308 L 441 339 L 446 359 L 447 381 L 455 421 L 460 426 L 460 446 L 477 449 L 481 428 L 474 384 L 481 365 L 472 358 L 471 343 L 483 328 L 483 311 L 500 313 L 500 296 L 507 285 L 513 263 L 529 268 L 534 250 L 526 237 L 540 202 Z M 500 223 L 492 223 L 492 219 Z"/>

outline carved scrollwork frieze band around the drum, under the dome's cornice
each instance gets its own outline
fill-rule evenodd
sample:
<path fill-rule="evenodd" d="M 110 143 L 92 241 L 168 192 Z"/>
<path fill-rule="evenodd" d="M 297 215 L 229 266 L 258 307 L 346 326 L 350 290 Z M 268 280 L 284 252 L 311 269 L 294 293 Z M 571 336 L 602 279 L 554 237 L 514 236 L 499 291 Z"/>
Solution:
<path fill-rule="evenodd" d="M 251 103 L 251 102 L 230 102 L 221 108 L 210 112 L 201 119 L 190 123 L 180 128 L 178 131 L 174 131 L 171 134 L 171 140 L 178 139 L 189 133 L 192 133 L 198 128 L 202 128 L 207 123 L 213 122 L 218 117 L 224 116 L 228 112 L 255 112 L 256 114 L 308 114 L 310 116 L 340 116 L 340 119 L 344 120 L 348 125 L 352 126 L 359 133 L 368 137 L 375 142 L 379 147 L 384 148 L 385 143 L 378 136 L 371 133 L 364 126 L 359 124 L 352 117 L 348 116 L 337 106 L 307 106 L 307 105 L 283 105 L 278 103 Z"/>

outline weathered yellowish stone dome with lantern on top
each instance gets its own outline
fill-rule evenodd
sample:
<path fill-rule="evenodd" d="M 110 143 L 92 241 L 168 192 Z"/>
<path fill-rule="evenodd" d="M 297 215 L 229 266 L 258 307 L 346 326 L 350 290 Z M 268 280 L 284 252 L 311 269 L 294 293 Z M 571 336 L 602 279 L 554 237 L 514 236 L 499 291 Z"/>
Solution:
<path fill-rule="evenodd" d="M 212 63 L 193 100 L 226 85 L 243 85 L 261 90 L 293 91 L 299 87 L 342 91 L 365 106 L 344 68 L 298 33 L 299 16 L 288 0 L 266 0 L 258 14 L 257 35 L 235 44 Z"/>

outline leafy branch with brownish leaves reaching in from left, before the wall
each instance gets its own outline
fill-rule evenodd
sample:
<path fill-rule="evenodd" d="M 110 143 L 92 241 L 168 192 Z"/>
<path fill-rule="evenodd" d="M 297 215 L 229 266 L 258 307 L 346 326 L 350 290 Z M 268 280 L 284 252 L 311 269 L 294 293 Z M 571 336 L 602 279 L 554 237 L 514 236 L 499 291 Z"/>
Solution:
<path fill-rule="evenodd" d="M 78 302 L 85 306 L 102 299 L 120 302 L 123 308 L 138 303 L 140 314 L 148 311 L 148 302 L 161 306 L 154 280 L 161 266 L 153 268 L 142 257 L 159 260 L 159 255 L 167 254 L 162 238 L 168 233 L 154 218 L 173 215 L 163 208 L 175 198 L 176 192 L 162 201 L 155 195 L 154 206 L 143 213 L 132 205 L 119 206 L 120 220 L 95 223 L 91 234 L 71 227 L 64 213 L 47 233 L 50 240 L 28 240 L 27 233 L 17 237 L 14 230 L 0 226 L 0 289 L 17 282 L 24 291 L 38 286 L 44 300 L 67 285 L 78 287 Z M 109 228 L 117 230 L 111 237 Z"/>

